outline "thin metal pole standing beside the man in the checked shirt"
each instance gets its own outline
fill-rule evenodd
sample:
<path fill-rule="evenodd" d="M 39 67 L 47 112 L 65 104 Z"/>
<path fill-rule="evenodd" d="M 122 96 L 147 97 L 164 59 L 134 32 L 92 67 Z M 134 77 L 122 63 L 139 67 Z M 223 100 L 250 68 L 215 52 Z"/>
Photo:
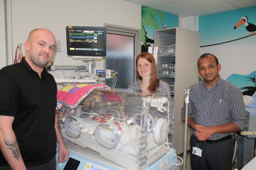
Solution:
<path fill-rule="evenodd" d="M 186 170 L 186 160 L 187 160 L 187 117 L 189 112 L 189 94 L 190 94 L 190 87 L 187 87 L 184 90 L 185 94 L 185 133 L 184 133 L 184 151 L 183 151 L 183 169 Z"/>

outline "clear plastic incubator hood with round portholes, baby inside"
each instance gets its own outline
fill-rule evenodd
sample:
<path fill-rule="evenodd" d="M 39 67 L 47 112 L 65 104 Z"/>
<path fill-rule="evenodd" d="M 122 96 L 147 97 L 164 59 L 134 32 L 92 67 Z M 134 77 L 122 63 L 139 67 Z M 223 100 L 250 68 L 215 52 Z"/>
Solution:
<path fill-rule="evenodd" d="M 96 89 L 76 108 L 58 111 L 61 133 L 125 168 L 143 169 L 172 147 L 172 103 L 164 92 Z"/>

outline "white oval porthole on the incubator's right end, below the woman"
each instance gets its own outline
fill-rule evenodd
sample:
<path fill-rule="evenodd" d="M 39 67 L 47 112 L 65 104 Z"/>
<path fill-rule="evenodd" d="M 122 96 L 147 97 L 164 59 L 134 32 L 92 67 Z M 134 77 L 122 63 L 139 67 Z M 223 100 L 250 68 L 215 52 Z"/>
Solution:
<path fill-rule="evenodd" d="M 166 141 L 169 132 L 168 121 L 164 118 L 159 118 L 154 127 L 154 138 L 157 144 L 163 144 Z"/>

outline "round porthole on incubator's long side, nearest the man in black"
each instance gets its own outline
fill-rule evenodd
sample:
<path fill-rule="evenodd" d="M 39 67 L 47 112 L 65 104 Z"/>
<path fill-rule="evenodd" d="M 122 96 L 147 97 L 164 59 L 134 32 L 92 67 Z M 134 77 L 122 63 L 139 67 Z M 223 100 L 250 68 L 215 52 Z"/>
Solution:
<path fill-rule="evenodd" d="M 67 136 L 69 136 L 70 138 L 80 137 L 83 126 L 84 120 L 76 116 L 67 117 L 64 122 L 65 132 L 67 133 Z"/>

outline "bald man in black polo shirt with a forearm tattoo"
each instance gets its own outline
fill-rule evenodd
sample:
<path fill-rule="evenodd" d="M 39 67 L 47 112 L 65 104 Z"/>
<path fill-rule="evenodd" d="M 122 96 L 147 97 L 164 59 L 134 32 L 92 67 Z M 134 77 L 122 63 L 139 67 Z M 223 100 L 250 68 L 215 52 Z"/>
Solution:
<path fill-rule="evenodd" d="M 56 169 L 69 156 L 57 126 L 57 85 L 44 68 L 51 61 L 55 37 L 34 29 L 18 64 L 0 70 L 0 169 Z"/>

